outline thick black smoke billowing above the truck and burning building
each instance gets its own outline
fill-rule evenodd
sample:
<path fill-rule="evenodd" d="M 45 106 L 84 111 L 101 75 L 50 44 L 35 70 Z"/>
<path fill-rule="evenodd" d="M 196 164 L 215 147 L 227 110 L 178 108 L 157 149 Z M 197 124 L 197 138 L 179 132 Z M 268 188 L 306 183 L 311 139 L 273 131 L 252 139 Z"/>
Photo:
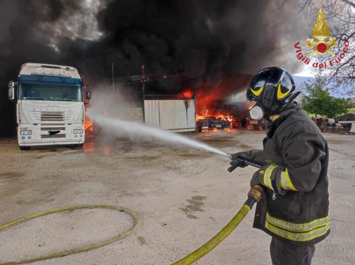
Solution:
<path fill-rule="evenodd" d="M 92 3 L 95 1 L 92 1 Z M 218 86 L 223 76 L 255 73 L 287 65 L 298 31 L 292 8 L 277 1 L 101 1 L 0 0 L 0 124 L 2 136 L 14 134 L 15 103 L 7 83 L 21 64 L 40 62 L 76 67 L 86 82 L 136 75 L 141 65 L 155 76 L 180 75 L 194 87 Z M 92 4 L 93 5 L 93 4 Z M 290 41 L 288 41 L 290 39 Z M 290 53 L 293 50 L 290 48 Z"/>

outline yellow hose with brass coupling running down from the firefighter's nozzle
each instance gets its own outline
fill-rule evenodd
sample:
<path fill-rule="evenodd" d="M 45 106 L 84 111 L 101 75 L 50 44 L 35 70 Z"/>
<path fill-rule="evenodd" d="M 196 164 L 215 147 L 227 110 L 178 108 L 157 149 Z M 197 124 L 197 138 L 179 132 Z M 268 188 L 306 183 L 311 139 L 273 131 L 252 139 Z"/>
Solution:
<path fill-rule="evenodd" d="M 260 201 L 263 193 L 263 188 L 259 185 L 254 185 L 248 192 L 248 199 L 240 208 L 238 213 L 230 220 L 230 222 L 214 237 L 212 237 L 203 246 L 196 249 L 186 257 L 174 262 L 174 265 L 190 265 L 196 260 L 203 257 L 209 251 L 214 249 L 219 243 L 221 243 L 232 231 L 239 225 L 245 215 L 252 209 L 254 203 Z"/>

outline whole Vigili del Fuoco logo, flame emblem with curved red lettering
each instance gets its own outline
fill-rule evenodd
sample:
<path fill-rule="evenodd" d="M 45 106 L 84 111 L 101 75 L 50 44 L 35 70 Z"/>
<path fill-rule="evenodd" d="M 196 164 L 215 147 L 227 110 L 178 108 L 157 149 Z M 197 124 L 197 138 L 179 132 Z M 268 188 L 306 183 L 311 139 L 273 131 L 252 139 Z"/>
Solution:
<path fill-rule="evenodd" d="M 304 53 L 308 52 L 307 55 L 302 53 L 300 41 L 295 44 L 294 47 L 296 49 L 296 57 L 298 60 L 302 61 L 306 65 L 309 65 L 311 62 L 310 58 L 315 54 L 319 56 L 330 54 L 333 56 L 334 59 L 324 62 L 312 61 L 311 66 L 313 68 L 322 69 L 332 67 L 333 65 L 340 63 L 340 61 L 345 57 L 349 47 L 349 40 L 345 40 L 344 48 L 337 56 L 337 54 L 333 51 L 333 48 L 338 44 L 338 41 L 335 37 L 330 37 L 330 30 L 327 25 L 327 20 L 325 19 L 321 8 L 318 11 L 317 19 L 312 30 L 312 35 L 314 39 L 306 38 L 307 43 L 305 44 L 305 47 L 308 51 L 304 51 Z"/>

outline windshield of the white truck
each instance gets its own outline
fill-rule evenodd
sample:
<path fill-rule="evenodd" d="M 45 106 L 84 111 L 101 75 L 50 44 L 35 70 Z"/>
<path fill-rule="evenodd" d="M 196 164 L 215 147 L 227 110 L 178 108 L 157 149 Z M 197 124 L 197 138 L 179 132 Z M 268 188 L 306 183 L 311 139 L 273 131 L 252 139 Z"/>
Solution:
<path fill-rule="evenodd" d="M 20 83 L 21 100 L 48 100 L 82 102 L 81 85 Z"/>

